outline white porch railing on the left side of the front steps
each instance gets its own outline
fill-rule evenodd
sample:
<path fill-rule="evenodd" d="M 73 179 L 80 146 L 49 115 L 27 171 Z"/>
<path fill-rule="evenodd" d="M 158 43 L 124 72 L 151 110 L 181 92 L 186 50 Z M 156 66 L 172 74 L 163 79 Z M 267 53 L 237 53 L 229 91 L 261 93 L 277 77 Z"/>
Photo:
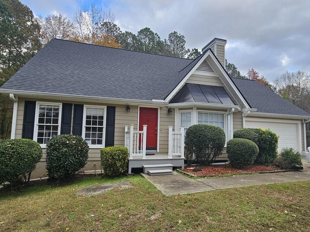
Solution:
<path fill-rule="evenodd" d="M 146 127 L 143 125 L 143 131 L 134 131 L 134 124 L 125 126 L 125 147 L 129 151 L 129 159 L 133 159 L 133 156 L 142 156 L 142 159 L 146 159 Z"/>

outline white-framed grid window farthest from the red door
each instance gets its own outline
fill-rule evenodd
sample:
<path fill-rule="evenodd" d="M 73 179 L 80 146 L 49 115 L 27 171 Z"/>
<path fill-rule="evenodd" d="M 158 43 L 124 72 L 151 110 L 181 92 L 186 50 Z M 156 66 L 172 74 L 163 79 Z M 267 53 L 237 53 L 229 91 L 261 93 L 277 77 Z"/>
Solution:
<path fill-rule="evenodd" d="M 47 144 L 54 135 L 60 134 L 61 103 L 37 103 L 36 129 L 33 140 Z"/>

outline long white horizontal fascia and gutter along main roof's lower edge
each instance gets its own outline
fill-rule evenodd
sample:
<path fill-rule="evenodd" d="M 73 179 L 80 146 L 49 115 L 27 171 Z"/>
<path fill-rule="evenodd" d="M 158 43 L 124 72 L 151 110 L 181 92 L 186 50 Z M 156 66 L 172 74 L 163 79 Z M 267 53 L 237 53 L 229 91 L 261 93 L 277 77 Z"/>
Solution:
<path fill-rule="evenodd" d="M 147 101 L 147 100 L 137 100 L 137 99 L 122 99 L 122 98 L 109 98 L 109 97 L 91 97 L 83 95 L 72 95 L 72 94 L 59 94 L 59 93 L 47 93 L 47 92 L 32 92 L 32 91 L 18 91 L 10 89 L 1 89 L 2 93 L 14 93 L 19 97 L 47 97 L 48 99 L 69 99 L 75 101 L 85 101 L 91 100 L 93 102 L 107 102 L 113 104 L 129 104 L 129 105 L 159 105 L 166 106 L 168 103 L 163 101 Z"/>

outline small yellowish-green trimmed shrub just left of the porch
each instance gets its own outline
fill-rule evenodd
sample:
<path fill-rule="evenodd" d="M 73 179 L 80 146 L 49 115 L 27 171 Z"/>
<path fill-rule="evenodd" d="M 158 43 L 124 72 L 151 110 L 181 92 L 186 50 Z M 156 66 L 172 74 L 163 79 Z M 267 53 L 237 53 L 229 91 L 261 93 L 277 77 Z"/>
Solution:
<path fill-rule="evenodd" d="M 107 147 L 100 151 L 101 168 L 106 176 L 119 176 L 128 170 L 129 152 L 124 147 Z"/>

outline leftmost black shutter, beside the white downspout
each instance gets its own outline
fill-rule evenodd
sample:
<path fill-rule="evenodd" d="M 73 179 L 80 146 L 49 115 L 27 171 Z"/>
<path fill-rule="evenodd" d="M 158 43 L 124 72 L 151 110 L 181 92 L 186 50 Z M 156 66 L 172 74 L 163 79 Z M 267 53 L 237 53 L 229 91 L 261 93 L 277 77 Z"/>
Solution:
<path fill-rule="evenodd" d="M 33 139 L 34 130 L 34 115 L 36 113 L 36 102 L 35 101 L 25 101 L 24 106 L 24 120 L 23 120 L 23 139 Z"/>

